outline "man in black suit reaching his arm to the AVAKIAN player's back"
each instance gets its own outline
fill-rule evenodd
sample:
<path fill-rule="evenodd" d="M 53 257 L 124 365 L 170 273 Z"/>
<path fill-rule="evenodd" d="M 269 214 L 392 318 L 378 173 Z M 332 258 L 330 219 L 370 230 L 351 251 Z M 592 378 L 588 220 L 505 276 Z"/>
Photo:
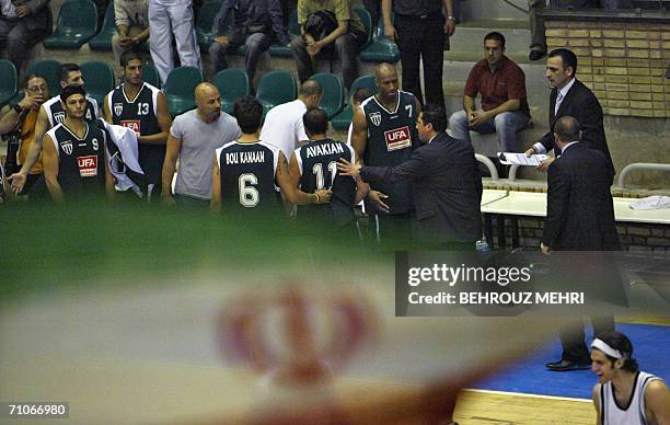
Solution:
<path fill-rule="evenodd" d="M 447 135 L 447 114 L 428 104 L 416 122 L 424 145 L 396 166 L 362 166 L 340 160 L 344 175 L 368 183 L 413 183 L 416 240 L 438 249 L 474 249 L 482 237 L 482 177 L 470 142 Z"/>

